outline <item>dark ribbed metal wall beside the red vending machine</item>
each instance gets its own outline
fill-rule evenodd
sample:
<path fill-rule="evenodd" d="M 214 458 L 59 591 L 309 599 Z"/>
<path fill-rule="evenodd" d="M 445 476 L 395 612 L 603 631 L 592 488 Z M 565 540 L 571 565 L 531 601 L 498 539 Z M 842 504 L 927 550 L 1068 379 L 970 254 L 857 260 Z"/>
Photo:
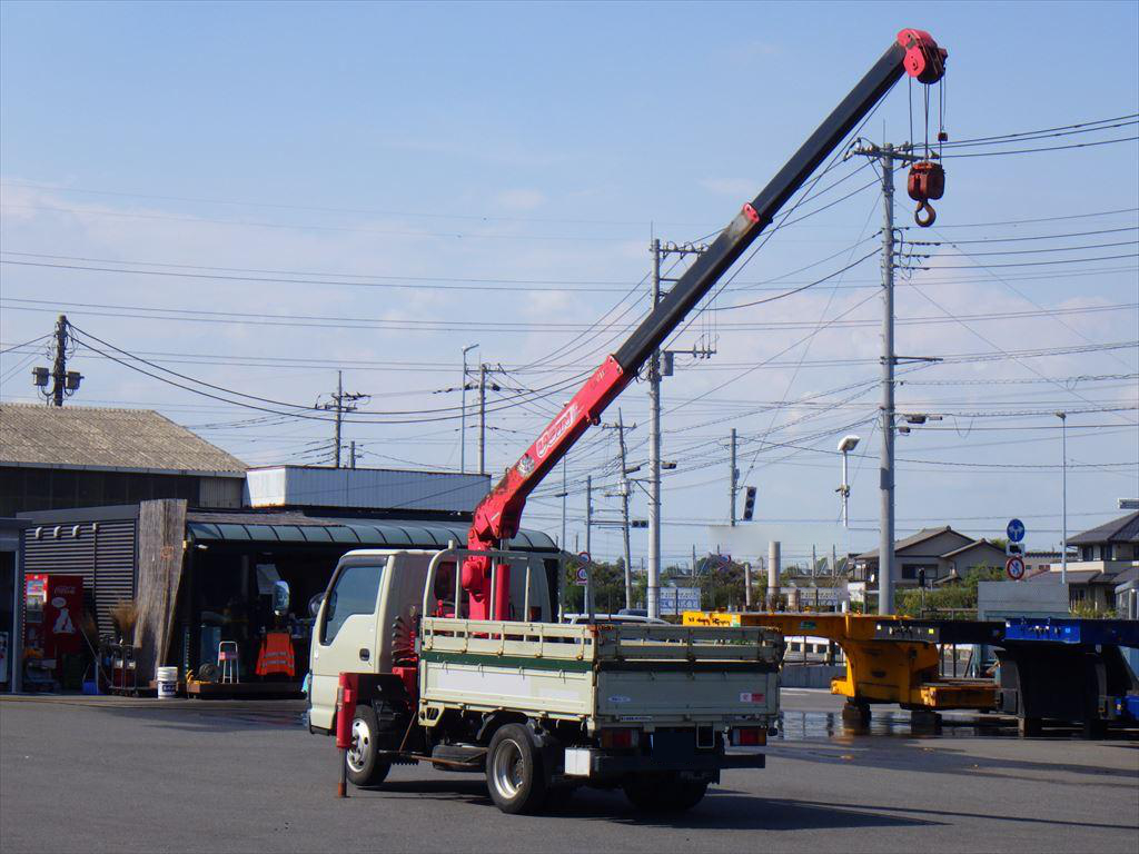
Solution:
<path fill-rule="evenodd" d="M 24 572 L 83 576 L 85 605 L 93 597 L 99 634 L 110 634 L 110 608 L 134 598 L 134 519 L 27 528 Z"/>

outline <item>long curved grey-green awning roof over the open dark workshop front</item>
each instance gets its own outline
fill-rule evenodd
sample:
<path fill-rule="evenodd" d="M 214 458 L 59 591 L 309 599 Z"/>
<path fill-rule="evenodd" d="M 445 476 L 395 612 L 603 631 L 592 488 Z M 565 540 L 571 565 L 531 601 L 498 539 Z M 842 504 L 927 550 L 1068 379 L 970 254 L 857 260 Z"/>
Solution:
<path fill-rule="evenodd" d="M 303 524 L 262 523 L 241 519 L 232 514 L 232 520 L 221 522 L 218 517 L 229 514 L 210 514 L 212 520 L 199 520 L 190 512 L 187 522 L 189 535 L 199 543 L 257 543 L 293 545 L 343 545 L 345 549 L 395 548 L 395 549 L 445 549 L 454 542 L 466 547 L 467 525 L 442 522 L 403 522 L 400 519 L 304 519 Z M 246 517 L 248 518 L 248 517 Z M 555 542 L 540 531 L 519 531 L 509 547 L 535 551 L 557 551 Z"/>

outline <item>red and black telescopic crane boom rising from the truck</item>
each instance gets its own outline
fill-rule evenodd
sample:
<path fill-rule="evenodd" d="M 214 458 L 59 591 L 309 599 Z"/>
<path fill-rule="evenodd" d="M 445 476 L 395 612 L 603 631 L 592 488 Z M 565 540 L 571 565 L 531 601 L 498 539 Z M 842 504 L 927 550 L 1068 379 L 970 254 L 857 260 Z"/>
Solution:
<path fill-rule="evenodd" d="M 624 391 L 637 371 L 696 304 L 772 222 L 854 126 L 903 74 L 929 85 L 945 73 L 948 54 L 921 30 L 902 30 L 877 63 L 835 107 L 760 194 L 745 204 L 706 252 L 680 277 L 621 347 L 606 358 L 502 479 L 475 508 L 468 548 L 493 549 L 518 533 L 526 496 L 560 461 L 590 425 Z M 472 619 L 508 619 L 510 569 L 499 567 L 491 590 L 490 558 L 468 557 L 462 585 L 470 593 Z M 528 618 L 530 615 L 525 615 Z"/>

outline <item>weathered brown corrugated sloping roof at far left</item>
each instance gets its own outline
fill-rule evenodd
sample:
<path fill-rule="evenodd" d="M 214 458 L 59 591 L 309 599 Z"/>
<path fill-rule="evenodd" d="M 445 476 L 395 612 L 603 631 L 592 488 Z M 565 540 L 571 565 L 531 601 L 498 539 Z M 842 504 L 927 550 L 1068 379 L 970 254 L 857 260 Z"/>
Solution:
<path fill-rule="evenodd" d="M 244 477 L 245 463 L 149 409 L 0 404 L 0 465 Z"/>

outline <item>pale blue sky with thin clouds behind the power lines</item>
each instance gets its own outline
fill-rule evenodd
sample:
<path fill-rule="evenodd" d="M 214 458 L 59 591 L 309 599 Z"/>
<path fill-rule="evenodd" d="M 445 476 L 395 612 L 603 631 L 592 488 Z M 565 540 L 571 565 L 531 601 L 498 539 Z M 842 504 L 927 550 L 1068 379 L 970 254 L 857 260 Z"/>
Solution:
<path fill-rule="evenodd" d="M 3 258 L 51 255 L 36 263 L 69 266 L 0 265 L 0 339 L 5 346 L 31 339 L 67 311 L 82 329 L 123 350 L 279 401 L 314 400 L 343 364 L 349 387 L 371 393 L 367 405 L 376 412 L 454 407 L 458 395 L 442 389 L 458 385 L 459 347 L 475 342 L 485 361 L 508 369 L 499 378 L 505 386 L 566 383 L 599 361 L 607 343 L 615 348 L 644 310 L 642 289 L 639 305 L 618 301 L 648 269 L 650 235 L 685 240 L 724 224 L 902 26 L 927 28 L 950 50 L 947 123 L 953 139 L 965 139 L 1139 112 L 1137 8 L 6 2 Z M 876 140 L 908 137 L 904 82 L 865 132 Z M 1136 136 L 1134 125 L 1095 138 L 1129 136 Z M 1123 229 L 1047 245 L 1134 239 L 1134 142 L 961 158 L 948 169 L 939 233 L 908 232 L 911 238 L 1001 240 Z M 869 176 L 865 170 L 849 186 Z M 852 257 L 847 248 L 878 228 L 879 205 L 867 189 L 777 235 L 718 306 L 746 302 L 757 287 L 792 285 L 842 266 Z M 975 224 L 1092 213 L 1050 223 Z M 904 194 L 898 216 L 908 222 Z M 919 287 L 899 289 L 898 314 L 913 320 L 899 325 L 899 352 L 1134 340 L 1134 309 L 1104 307 L 1137 302 L 1134 245 L 1074 256 L 1129 253 L 1000 269 L 988 264 L 1017 263 L 1021 256 L 994 256 L 982 269 L 978 256 L 937 247 L 928 262 L 937 269 L 917 273 Z M 804 273 L 792 272 L 830 255 Z M 1029 257 L 1035 263 L 1072 256 Z M 146 262 L 151 273 L 189 268 L 149 264 L 182 264 L 325 276 L 303 285 L 175 278 L 77 270 L 99 264 L 65 258 L 98 258 L 116 270 L 125 262 L 144 269 Z M 352 276 L 358 284 L 345 284 Z M 839 550 L 876 544 L 877 436 L 869 424 L 851 428 L 866 437 L 860 452 L 869 455 L 855 461 L 852 516 L 859 522 L 850 534 L 833 522 L 837 460 L 828 453 L 851 424 L 875 411 L 872 387 L 853 401 L 845 401 L 851 392 L 830 393 L 877 373 L 871 361 L 880 307 L 869 287 L 875 277 L 870 260 L 800 297 L 705 312 L 678 338 L 678 347 L 714 343 L 718 354 L 695 364 L 680 360 L 678 376 L 665 385 L 664 453 L 680 463 L 665 493 L 670 556 L 715 544 L 706 524 L 727 514 L 723 445 L 732 426 L 752 440 L 743 444 L 741 468 L 760 486 L 759 516 L 781 520 L 754 526 L 757 542 L 779 536 L 793 557 L 811 543 L 827 551 L 831 543 Z M 460 279 L 493 279 L 515 289 Z M 587 284 L 556 290 L 514 281 Z M 377 282 L 407 287 L 372 287 Z M 607 314 L 615 304 L 621 309 Z M 229 311 L 248 320 L 323 315 L 374 328 L 156 319 L 158 309 Z M 1010 312 L 1030 315 L 993 319 Z M 841 314 L 843 322 L 868 325 L 826 327 L 810 336 L 811 325 Z M 603 318 L 614 326 L 595 336 Z M 794 323 L 808 326 L 788 328 Z M 779 364 L 767 362 L 804 336 Z M 28 356 L 0 356 L 0 376 L 11 375 L 0 386 L 5 400 L 31 394 Z M 259 358 L 278 361 L 256 367 Z M 828 359 L 834 363 L 816 364 Z M 254 463 L 314 461 L 323 452 L 319 443 L 329 430 L 322 422 L 239 424 L 259 413 L 195 397 L 89 352 L 80 352 L 76 364 L 88 379 L 75 402 L 159 408 Z M 1056 419 L 995 413 L 1113 404 L 1122 411 L 1068 420 L 1070 460 L 1107 466 L 1070 474 L 1071 527 L 1109 518 L 1117 496 L 1139 492 L 1139 469 L 1118 466 L 1139 459 L 1136 412 L 1126 409 L 1136 403 L 1136 370 L 1130 347 L 919 371 L 899 389 L 900 408 L 954 414 L 939 432 L 899 442 L 899 457 L 913 460 L 900 463 L 899 528 L 948 522 L 992 535 L 1018 515 L 1029 524 L 1030 543 L 1055 542 L 1058 473 L 997 467 L 1058 460 Z M 1081 376 L 1107 379 L 1073 379 Z M 495 413 L 493 470 L 528 444 L 560 396 Z M 638 385 L 621 400 L 625 420 L 639 425 L 630 442 L 641 458 L 645 399 Z M 959 414 L 973 412 L 985 414 Z M 376 454 L 364 458 L 368 465 L 458 466 L 453 420 L 358 424 L 349 435 Z M 816 450 L 780 461 L 770 446 L 753 455 L 759 438 Z M 571 536 L 581 532 L 581 481 L 592 471 L 611 482 L 605 473 L 613 454 L 606 432 L 571 458 Z M 974 463 L 975 470 L 947 465 L 954 462 Z M 598 502 L 605 516 L 616 507 L 604 496 Z M 642 501 L 634 501 L 634 514 L 644 515 Z M 535 495 L 527 524 L 559 533 L 559 502 Z M 606 528 L 596 533 L 593 550 L 615 555 L 618 543 L 615 529 Z M 642 548 L 637 543 L 634 551 Z"/>

